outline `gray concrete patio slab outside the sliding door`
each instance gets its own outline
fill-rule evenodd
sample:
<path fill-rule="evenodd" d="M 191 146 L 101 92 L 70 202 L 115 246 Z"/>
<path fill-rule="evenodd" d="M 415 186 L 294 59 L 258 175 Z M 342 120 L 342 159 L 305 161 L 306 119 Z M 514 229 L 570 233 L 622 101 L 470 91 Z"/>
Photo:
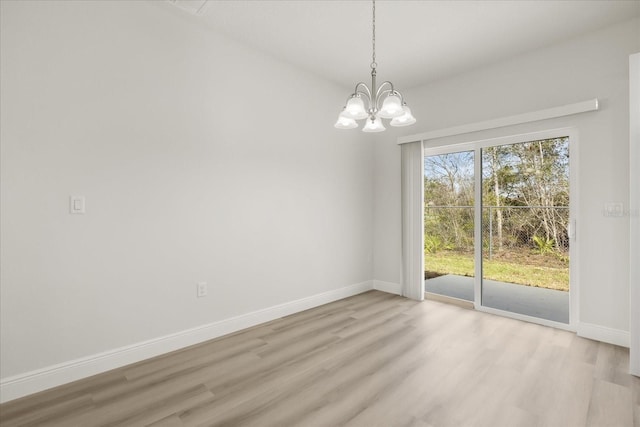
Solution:
<path fill-rule="evenodd" d="M 425 280 L 425 291 L 473 301 L 473 277 L 447 274 Z M 483 280 L 482 305 L 569 323 L 569 292 Z"/>

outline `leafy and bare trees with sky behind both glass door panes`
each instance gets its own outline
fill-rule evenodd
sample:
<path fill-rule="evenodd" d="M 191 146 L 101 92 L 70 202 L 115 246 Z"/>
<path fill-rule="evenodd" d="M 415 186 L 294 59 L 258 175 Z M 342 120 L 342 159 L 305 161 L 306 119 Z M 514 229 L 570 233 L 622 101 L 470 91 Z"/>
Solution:
<path fill-rule="evenodd" d="M 568 137 L 482 150 L 483 218 L 491 215 L 498 251 L 568 248 L 568 165 Z M 474 152 L 428 156 L 424 168 L 425 236 L 434 247 L 472 250 Z"/>

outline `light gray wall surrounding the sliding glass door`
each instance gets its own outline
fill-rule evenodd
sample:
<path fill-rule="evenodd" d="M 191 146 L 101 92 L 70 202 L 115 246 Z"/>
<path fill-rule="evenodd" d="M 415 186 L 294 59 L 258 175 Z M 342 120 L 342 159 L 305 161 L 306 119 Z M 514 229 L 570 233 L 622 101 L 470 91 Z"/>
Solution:
<path fill-rule="evenodd" d="M 640 22 L 633 20 L 406 91 L 418 123 L 386 132 L 375 143 L 374 279 L 400 283 L 398 136 L 598 98 L 598 112 L 462 135 L 450 142 L 577 127 L 579 319 L 587 333 L 592 327 L 617 336 L 626 332 L 628 340 L 629 217 L 604 217 L 603 205 L 629 205 L 628 64 L 629 55 L 638 51 Z"/>

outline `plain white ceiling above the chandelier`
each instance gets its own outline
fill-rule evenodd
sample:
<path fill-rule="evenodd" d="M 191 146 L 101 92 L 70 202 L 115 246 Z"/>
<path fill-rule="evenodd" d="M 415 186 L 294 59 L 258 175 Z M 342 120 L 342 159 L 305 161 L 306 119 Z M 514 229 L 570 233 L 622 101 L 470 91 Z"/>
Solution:
<path fill-rule="evenodd" d="M 350 88 L 370 78 L 370 1 L 168 1 L 337 84 Z M 640 0 L 378 0 L 378 78 L 406 89 L 633 17 L 640 17 Z"/>

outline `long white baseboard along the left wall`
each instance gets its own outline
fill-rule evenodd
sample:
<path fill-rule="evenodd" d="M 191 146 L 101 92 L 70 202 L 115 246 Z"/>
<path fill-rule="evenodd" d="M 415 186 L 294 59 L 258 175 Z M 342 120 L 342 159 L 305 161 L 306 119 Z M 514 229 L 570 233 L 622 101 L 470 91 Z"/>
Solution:
<path fill-rule="evenodd" d="M 371 280 L 207 325 L 109 350 L 0 381 L 0 403 L 199 344 L 373 289 Z"/>

